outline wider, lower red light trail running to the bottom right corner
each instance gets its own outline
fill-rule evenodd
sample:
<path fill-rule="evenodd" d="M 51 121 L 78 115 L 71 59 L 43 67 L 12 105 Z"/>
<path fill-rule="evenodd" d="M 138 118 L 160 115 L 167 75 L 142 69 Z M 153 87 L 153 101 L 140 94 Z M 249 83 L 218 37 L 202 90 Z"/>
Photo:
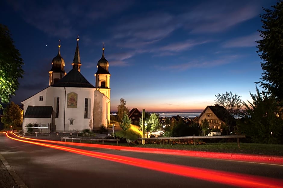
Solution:
<path fill-rule="evenodd" d="M 29 140 L 20 140 L 14 137 L 10 137 L 7 132 L 5 132 L 6 136 L 10 139 L 17 140 L 20 142 L 31 143 L 39 146 L 45 146 L 53 149 L 60 149 L 63 151 L 76 153 L 80 155 L 85 155 L 89 157 L 95 157 L 98 159 L 109 160 L 113 162 L 119 162 L 126 165 L 132 165 L 141 168 L 147 168 L 155 171 L 161 171 L 170 174 L 176 174 L 180 176 L 196 178 L 201 180 L 212 181 L 216 183 L 222 183 L 227 185 L 239 186 L 239 187 L 253 187 L 253 188 L 282 188 L 283 181 L 278 179 L 266 178 L 266 177 L 259 177 L 247 174 L 239 174 L 239 173 L 232 173 L 232 172 L 223 172 L 223 171 L 216 171 L 216 170 L 209 170 L 203 168 L 194 168 L 189 166 L 182 166 L 182 165 L 174 165 L 164 162 L 155 162 L 145 159 L 136 159 L 132 157 L 126 156 L 118 156 L 113 154 L 107 153 L 99 153 L 93 152 L 83 149 L 75 149 L 66 146 L 56 146 L 47 143 L 39 143 Z M 49 140 L 50 141 L 50 140 Z M 56 141 L 52 141 L 56 142 Z M 204 176 L 205 174 L 205 176 Z"/>

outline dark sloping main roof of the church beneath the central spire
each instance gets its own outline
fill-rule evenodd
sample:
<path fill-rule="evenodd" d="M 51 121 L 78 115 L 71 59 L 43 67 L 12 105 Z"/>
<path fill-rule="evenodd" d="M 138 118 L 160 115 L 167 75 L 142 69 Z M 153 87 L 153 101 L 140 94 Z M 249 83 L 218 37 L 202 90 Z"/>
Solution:
<path fill-rule="evenodd" d="M 95 88 L 77 69 L 72 69 L 51 87 Z"/>

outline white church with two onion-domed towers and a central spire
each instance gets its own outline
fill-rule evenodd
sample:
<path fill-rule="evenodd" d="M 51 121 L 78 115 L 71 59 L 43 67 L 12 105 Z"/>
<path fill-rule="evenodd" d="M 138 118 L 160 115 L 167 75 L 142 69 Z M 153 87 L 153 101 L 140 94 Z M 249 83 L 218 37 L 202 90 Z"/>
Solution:
<path fill-rule="evenodd" d="M 23 134 L 27 127 L 40 132 L 67 132 L 95 130 L 110 122 L 110 73 L 109 63 L 102 57 L 97 63 L 95 86 L 81 74 L 79 37 L 73 59 L 73 68 L 66 73 L 65 62 L 60 54 L 52 60 L 49 86 L 22 101 L 24 105 Z"/>

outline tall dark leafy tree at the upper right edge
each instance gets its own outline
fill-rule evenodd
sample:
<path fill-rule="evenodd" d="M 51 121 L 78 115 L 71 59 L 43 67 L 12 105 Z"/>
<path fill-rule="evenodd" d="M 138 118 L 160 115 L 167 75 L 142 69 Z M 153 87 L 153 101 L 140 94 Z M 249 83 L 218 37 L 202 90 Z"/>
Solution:
<path fill-rule="evenodd" d="M 257 53 L 263 60 L 260 86 L 283 104 L 283 1 L 272 9 L 263 8 L 266 14 L 260 15 L 263 30 L 258 29 L 262 39 L 257 41 Z"/>

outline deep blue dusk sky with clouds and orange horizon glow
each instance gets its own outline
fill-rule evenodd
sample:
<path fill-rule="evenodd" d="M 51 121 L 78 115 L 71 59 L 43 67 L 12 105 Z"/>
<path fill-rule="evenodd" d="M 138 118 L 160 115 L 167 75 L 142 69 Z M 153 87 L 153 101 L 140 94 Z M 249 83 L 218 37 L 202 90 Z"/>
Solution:
<path fill-rule="evenodd" d="M 276 2 L 4 0 L 0 23 L 25 63 L 11 101 L 48 87 L 59 39 L 69 72 L 79 35 L 81 73 L 92 85 L 104 43 L 111 111 L 120 98 L 149 112 L 200 112 L 229 91 L 246 102 L 263 72 L 255 42 L 260 14 Z"/>

